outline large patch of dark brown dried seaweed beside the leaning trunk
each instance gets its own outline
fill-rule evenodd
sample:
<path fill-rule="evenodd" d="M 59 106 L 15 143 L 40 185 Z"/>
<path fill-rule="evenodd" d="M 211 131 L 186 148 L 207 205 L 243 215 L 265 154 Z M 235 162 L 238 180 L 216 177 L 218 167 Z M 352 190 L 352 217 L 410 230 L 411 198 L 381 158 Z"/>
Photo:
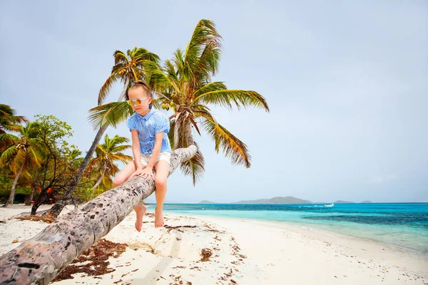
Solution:
<path fill-rule="evenodd" d="M 106 239 L 100 239 L 93 244 L 92 247 L 86 249 L 81 255 L 74 259 L 61 274 L 56 276 L 53 281 L 61 281 L 64 279 L 73 279 L 73 274 L 86 273 L 89 276 L 99 276 L 116 271 L 116 269 L 108 268 L 110 262 L 109 257 L 118 258 L 126 251 L 127 244 L 119 244 L 110 242 Z M 113 278 L 113 275 L 112 275 Z"/>

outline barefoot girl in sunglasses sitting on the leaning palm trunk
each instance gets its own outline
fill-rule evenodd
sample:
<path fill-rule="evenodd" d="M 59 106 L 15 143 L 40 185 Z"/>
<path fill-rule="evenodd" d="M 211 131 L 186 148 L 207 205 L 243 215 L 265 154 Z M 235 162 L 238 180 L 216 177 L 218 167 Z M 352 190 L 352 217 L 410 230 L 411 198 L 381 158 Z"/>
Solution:
<path fill-rule="evenodd" d="M 113 181 L 114 187 L 126 182 L 135 175 L 153 179 L 153 167 L 156 170 L 156 209 L 155 227 L 163 227 L 163 201 L 166 194 L 166 179 L 170 163 L 170 142 L 168 118 L 158 110 L 151 108 L 152 93 L 143 81 L 137 81 L 128 90 L 128 103 L 136 111 L 126 121 L 132 137 L 134 160 L 118 173 Z M 141 232 L 146 207 L 138 204 L 136 230 Z"/>

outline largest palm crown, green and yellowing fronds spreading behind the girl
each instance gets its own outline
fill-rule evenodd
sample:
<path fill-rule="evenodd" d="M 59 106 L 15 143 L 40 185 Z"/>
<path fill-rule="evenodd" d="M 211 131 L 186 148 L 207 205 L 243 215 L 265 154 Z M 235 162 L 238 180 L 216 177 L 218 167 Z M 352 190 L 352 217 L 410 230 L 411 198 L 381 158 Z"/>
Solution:
<path fill-rule="evenodd" d="M 209 104 L 232 108 L 255 106 L 267 112 L 265 98 L 252 90 L 228 90 L 223 82 L 212 82 L 211 76 L 218 71 L 221 36 L 213 21 L 200 20 L 185 51 L 178 49 L 163 68 L 155 62 L 145 62 L 146 82 L 158 94 L 154 104 L 173 110 L 170 116 L 170 142 L 173 148 L 196 145 L 192 127 L 200 134 L 205 130 L 215 142 L 215 150 L 223 151 L 237 165 L 250 167 L 248 148 L 210 113 Z M 108 122 L 116 125 L 131 112 L 124 103 L 109 103 L 91 110 L 94 124 Z M 195 157 L 183 162 L 185 175 L 192 175 L 193 184 L 203 175 L 204 158 L 199 151 Z"/>

